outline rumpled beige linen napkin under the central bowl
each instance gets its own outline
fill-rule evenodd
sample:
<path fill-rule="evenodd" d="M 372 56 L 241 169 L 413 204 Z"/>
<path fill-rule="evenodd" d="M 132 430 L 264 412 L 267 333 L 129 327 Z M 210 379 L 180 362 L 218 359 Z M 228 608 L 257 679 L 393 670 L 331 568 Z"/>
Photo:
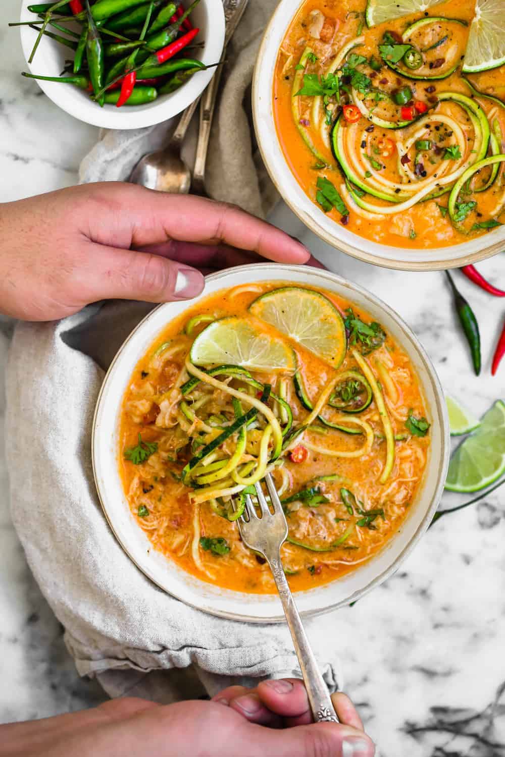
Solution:
<path fill-rule="evenodd" d="M 274 0 L 251 0 L 232 45 L 210 145 L 208 189 L 257 215 L 275 201 L 257 171 L 249 90 Z M 81 182 L 126 179 L 167 126 L 105 132 Z M 300 676 L 285 626 L 226 621 L 158 589 L 123 552 L 104 519 L 91 468 L 91 429 L 104 370 L 151 305 L 115 302 L 57 323 L 19 323 L 8 365 L 7 438 L 14 525 L 36 580 L 65 627 L 82 675 L 111 696 L 159 702 L 211 695 L 229 683 Z M 335 615 L 307 624 L 331 690 L 341 687 Z M 185 670 L 181 670 L 184 668 Z M 254 684 L 253 684 L 254 685 Z"/>

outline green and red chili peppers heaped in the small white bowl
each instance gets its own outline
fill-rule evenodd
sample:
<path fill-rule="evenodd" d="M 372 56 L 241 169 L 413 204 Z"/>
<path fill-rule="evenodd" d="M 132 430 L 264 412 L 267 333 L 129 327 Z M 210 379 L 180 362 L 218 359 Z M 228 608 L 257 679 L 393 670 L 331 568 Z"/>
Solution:
<path fill-rule="evenodd" d="M 174 92 L 207 68 L 186 57 L 199 32 L 189 18 L 198 2 L 185 10 L 171 0 L 61 0 L 29 5 L 33 22 L 9 26 L 28 25 L 38 33 L 29 63 L 43 36 L 74 51 L 62 76 L 23 76 L 73 84 L 101 106 L 142 105 Z"/>

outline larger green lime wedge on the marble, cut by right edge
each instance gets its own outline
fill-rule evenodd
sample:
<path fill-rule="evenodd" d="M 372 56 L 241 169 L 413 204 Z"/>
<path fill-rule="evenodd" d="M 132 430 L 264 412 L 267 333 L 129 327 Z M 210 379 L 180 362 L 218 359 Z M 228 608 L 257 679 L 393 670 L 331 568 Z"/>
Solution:
<path fill-rule="evenodd" d="M 505 472 L 505 404 L 494 403 L 475 434 L 457 448 L 450 459 L 445 488 L 480 491 Z"/>

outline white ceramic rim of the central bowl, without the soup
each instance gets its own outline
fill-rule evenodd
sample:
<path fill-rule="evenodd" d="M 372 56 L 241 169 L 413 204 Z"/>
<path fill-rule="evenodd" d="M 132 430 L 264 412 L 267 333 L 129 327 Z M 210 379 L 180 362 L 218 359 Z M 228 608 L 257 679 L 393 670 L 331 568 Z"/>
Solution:
<path fill-rule="evenodd" d="M 426 471 L 407 519 L 387 546 L 354 572 L 331 584 L 298 592 L 296 602 L 304 615 L 315 615 L 363 597 L 385 581 L 413 549 L 428 528 L 444 488 L 449 461 L 450 437 L 444 394 L 431 360 L 413 332 L 391 308 L 351 282 L 307 266 L 258 263 L 239 266 L 206 279 L 196 301 L 220 289 L 243 282 L 297 282 L 334 291 L 367 310 L 404 347 L 415 366 L 426 402 L 431 447 Z M 194 304 L 195 301 L 192 301 Z M 117 466 L 120 405 L 137 361 L 171 319 L 188 307 L 184 302 L 161 305 L 149 313 L 126 339 L 104 379 L 95 412 L 92 458 L 95 482 L 106 518 L 117 540 L 133 562 L 159 587 L 198 609 L 236 620 L 276 622 L 284 618 L 279 597 L 241 593 L 199 581 L 152 548 L 130 512 Z"/>

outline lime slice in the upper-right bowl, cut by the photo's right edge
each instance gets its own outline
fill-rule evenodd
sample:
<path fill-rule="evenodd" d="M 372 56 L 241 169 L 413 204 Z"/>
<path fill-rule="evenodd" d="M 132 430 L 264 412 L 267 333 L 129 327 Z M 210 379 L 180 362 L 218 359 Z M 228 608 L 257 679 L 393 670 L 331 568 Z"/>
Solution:
<path fill-rule="evenodd" d="M 466 43 L 464 73 L 487 71 L 505 63 L 503 0 L 477 0 Z"/>

